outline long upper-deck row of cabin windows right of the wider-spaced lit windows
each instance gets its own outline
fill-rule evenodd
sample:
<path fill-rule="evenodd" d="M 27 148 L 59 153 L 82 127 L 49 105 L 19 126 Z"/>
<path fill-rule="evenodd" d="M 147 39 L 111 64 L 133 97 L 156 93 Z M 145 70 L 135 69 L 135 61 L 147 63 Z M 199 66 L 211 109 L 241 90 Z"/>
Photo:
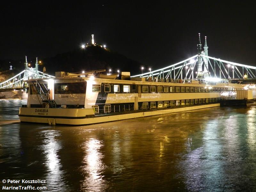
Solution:
<path fill-rule="evenodd" d="M 175 92 L 222 92 L 228 88 L 204 88 L 204 87 L 175 87 Z M 148 86 L 142 86 L 142 92 L 148 92 Z M 156 92 L 156 86 L 150 86 L 150 92 Z M 163 92 L 162 86 L 157 86 L 157 92 Z M 169 92 L 169 87 L 164 86 L 164 92 Z M 174 87 L 170 87 L 170 92 L 174 92 Z"/>

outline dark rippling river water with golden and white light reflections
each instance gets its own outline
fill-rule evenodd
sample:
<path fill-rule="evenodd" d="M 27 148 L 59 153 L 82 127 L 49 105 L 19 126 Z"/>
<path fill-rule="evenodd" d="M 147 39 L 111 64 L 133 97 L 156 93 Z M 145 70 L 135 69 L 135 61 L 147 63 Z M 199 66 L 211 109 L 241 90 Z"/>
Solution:
<path fill-rule="evenodd" d="M 89 192 L 256 191 L 255 107 L 87 126 L 4 124 L 18 119 L 21 104 L 26 101 L 0 100 L 0 190 L 20 185 L 4 179 L 40 179 L 46 183 L 22 186 Z"/>

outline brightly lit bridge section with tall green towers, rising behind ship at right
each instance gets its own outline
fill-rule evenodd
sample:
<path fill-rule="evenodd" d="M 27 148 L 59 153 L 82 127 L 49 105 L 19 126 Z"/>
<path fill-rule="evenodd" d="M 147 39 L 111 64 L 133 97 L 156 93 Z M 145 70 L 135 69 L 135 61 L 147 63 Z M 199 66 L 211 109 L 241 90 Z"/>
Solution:
<path fill-rule="evenodd" d="M 131 77 L 146 77 L 149 81 L 179 81 L 180 83 L 194 79 L 206 81 L 256 79 L 256 67 L 210 57 L 206 36 L 204 50 L 202 50 L 200 33 L 198 41 L 197 54 L 193 57 L 147 73 L 141 70 L 140 74 Z"/>

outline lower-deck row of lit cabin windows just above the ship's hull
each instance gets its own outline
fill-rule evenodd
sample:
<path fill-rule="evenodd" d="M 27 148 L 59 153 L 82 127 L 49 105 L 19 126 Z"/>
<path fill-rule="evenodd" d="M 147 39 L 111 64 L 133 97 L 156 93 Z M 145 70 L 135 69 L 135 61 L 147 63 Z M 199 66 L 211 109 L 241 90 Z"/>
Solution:
<path fill-rule="evenodd" d="M 218 98 L 204 98 L 204 99 L 187 99 L 187 100 L 172 100 L 172 101 L 154 101 L 150 102 L 150 109 L 156 108 L 167 108 L 167 107 L 174 107 L 174 106 L 183 106 L 183 105 L 196 105 L 196 104 L 202 104 L 202 103 L 214 103 L 218 102 Z M 93 105 L 92 106 L 93 111 L 95 114 L 99 113 L 99 106 Z M 148 102 L 142 103 L 142 109 L 148 109 Z M 104 105 L 104 113 L 110 113 L 111 112 L 111 105 L 107 104 Z"/>

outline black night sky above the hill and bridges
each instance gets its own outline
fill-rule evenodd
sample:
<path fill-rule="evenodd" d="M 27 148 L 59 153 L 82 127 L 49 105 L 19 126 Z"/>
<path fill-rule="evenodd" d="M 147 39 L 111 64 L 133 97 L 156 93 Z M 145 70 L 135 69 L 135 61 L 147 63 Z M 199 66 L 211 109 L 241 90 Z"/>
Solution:
<path fill-rule="evenodd" d="M 253 1 L 155 2 L 1 3 L 0 60 L 52 57 L 94 34 L 95 43 L 157 69 L 195 55 L 200 32 L 209 56 L 256 66 Z"/>

